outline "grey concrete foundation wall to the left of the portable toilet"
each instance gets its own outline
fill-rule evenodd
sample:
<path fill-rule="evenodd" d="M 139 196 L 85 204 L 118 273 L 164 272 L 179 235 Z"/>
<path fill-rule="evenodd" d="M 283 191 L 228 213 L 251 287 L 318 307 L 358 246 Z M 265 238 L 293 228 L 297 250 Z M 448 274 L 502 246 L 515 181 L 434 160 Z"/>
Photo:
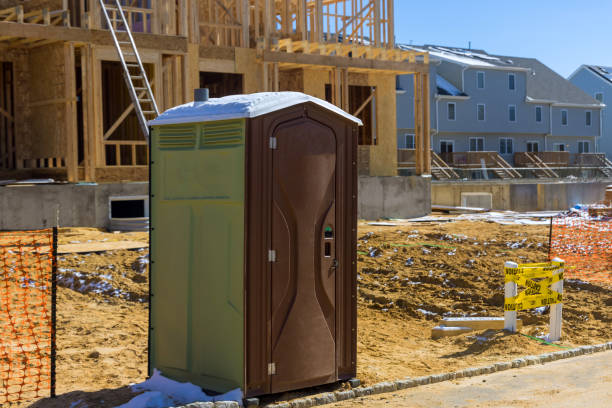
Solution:
<path fill-rule="evenodd" d="M 0 230 L 107 228 L 109 197 L 148 195 L 148 183 L 0 187 Z"/>

